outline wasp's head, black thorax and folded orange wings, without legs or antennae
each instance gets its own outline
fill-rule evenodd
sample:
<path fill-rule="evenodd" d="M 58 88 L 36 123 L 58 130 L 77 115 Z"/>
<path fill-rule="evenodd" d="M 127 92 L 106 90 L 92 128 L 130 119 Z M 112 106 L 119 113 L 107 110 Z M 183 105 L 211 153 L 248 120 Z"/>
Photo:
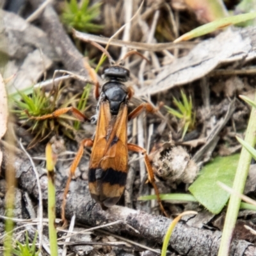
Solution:
<path fill-rule="evenodd" d="M 98 122 L 89 164 L 89 189 L 92 198 L 107 209 L 124 192 L 127 168 L 127 104 L 129 70 L 112 66 L 104 70 L 108 82 L 102 86 Z"/>

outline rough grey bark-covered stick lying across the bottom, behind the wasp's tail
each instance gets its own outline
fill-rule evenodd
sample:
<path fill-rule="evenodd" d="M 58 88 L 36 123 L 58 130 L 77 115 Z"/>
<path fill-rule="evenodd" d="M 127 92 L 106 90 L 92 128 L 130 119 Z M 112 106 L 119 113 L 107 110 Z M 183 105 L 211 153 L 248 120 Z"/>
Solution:
<path fill-rule="evenodd" d="M 6 145 L 1 149 L 4 153 L 4 166 L 9 159 L 8 148 Z M 13 149 L 14 150 L 14 149 Z M 10 163 L 9 163 L 10 164 Z M 36 179 L 29 160 L 24 154 L 17 152 L 14 162 L 17 178 L 21 188 L 26 189 L 28 193 L 38 198 L 38 189 Z M 56 177 L 58 180 L 58 175 Z M 56 184 L 56 209 L 60 214 L 61 202 L 63 199 L 63 180 Z M 76 183 L 77 182 L 74 182 Z M 44 172 L 40 172 L 40 184 L 42 186 L 43 198 L 47 198 L 47 177 Z M 81 184 L 81 183 L 80 183 Z M 74 184 L 73 184 L 74 185 Z M 129 234 L 130 236 L 144 237 L 147 241 L 154 243 L 163 243 L 163 237 L 171 223 L 171 220 L 163 216 L 154 216 L 141 211 L 129 209 L 127 207 L 114 206 L 108 211 L 102 211 L 98 204 L 95 204 L 88 195 L 88 184 L 83 181 L 83 188 L 76 192 L 71 188 L 68 194 L 66 217 L 70 219 L 76 213 L 76 220 L 91 226 L 99 226 L 116 220 L 122 220 L 120 224 L 106 228 L 109 232 L 117 234 Z M 72 186 L 71 186 L 72 187 Z M 180 255 L 200 256 L 217 255 L 220 244 L 221 232 L 205 230 L 202 228 L 189 227 L 186 224 L 178 223 L 170 239 L 170 247 Z M 255 255 L 256 248 L 243 240 L 234 240 L 230 255 L 251 256 Z"/>

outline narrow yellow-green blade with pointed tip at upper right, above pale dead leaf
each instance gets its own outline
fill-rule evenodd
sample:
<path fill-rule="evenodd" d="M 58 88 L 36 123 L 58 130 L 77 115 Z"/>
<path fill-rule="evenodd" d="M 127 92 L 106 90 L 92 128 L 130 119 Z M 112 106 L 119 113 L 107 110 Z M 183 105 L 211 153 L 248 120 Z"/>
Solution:
<path fill-rule="evenodd" d="M 240 14 L 232 17 L 214 20 L 212 22 L 209 22 L 205 25 L 202 25 L 198 28 L 195 28 L 189 31 L 188 33 L 177 38 L 174 42 L 177 43 L 177 42 L 189 40 L 198 36 L 206 35 L 208 33 L 216 31 L 217 29 L 226 28 L 227 26 L 230 26 L 232 24 L 237 24 L 237 23 L 244 22 L 246 20 L 255 19 L 255 18 L 256 18 L 256 12 L 252 12 L 252 13 L 244 13 L 244 14 Z"/>

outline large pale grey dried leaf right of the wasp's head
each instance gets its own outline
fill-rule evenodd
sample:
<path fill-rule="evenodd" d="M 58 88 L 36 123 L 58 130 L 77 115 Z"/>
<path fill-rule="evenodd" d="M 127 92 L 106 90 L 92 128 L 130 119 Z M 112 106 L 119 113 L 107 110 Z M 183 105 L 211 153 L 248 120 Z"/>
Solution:
<path fill-rule="evenodd" d="M 255 29 L 254 29 L 255 30 Z M 156 79 L 136 96 L 153 95 L 174 86 L 191 83 L 209 74 L 221 63 L 252 60 L 256 57 L 256 35 L 253 28 L 227 29 L 215 38 L 204 40 L 185 57 L 166 65 Z"/>

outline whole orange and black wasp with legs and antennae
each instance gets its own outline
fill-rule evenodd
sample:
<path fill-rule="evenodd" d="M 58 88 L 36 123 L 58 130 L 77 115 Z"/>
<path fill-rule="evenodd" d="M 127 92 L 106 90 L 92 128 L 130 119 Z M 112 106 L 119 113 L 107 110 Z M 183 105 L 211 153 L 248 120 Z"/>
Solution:
<path fill-rule="evenodd" d="M 54 118 L 71 111 L 81 121 L 90 120 L 91 122 L 97 123 L 93 140 L 86 138 L 81 141 L 76 157 L 70 166 L 70 175 L 65 187 L 61 207 L 61 218 L 65 221 L 65 205 L 69 184 L 83 156 L 84 147 L 92 147 L 88 173 L 90 194 L 100 204 L 103 210 L 115 205 L 124 193 L 127 179 L 128 151 L 130 150 L 143 154 L 148 172 L 148 181 L 154 187 L 161 211 L 166 215 L 159 191 L 154 182 L 154 173 L 150 160 L 148 159 L 147 151 L 138 145 L 127 143 L 127 122 L 132 118 L 136 118 L 143 111 L 147 111 L 148 113 L 158 111 L 158 108 L 154 108 L 151 104 L 142 103 L 131 113 L 128 113 L 128 103 L 134 92 L 131 87 L 127 87 L 124 84 L 128 81 L 130 72 L 127 68 L 123 67 L 124 64 L 122 61 L 132 54 L 138 54 L 141 58 L 145 57 L 137 51 L 130 51 L 127 52 L 120 63 L 116 64 L 106 49 L 95 42 L 90 41 L 90 43 L 104 52 L 111 63 L 109 67 L 103 70 L 102 77 L 105 83 L 102 85 L 101 90 L 95 70 L 87 63 L 84 63 L 92 78 L 92 83 L 95 84 L 94 96 L 98 100 L 96 115 L 89 119 L 78 109 L 69 107 L 57 109 L 49 115 L 33 117 L 36 120 L 44 120 L 45 118 Z"/>

